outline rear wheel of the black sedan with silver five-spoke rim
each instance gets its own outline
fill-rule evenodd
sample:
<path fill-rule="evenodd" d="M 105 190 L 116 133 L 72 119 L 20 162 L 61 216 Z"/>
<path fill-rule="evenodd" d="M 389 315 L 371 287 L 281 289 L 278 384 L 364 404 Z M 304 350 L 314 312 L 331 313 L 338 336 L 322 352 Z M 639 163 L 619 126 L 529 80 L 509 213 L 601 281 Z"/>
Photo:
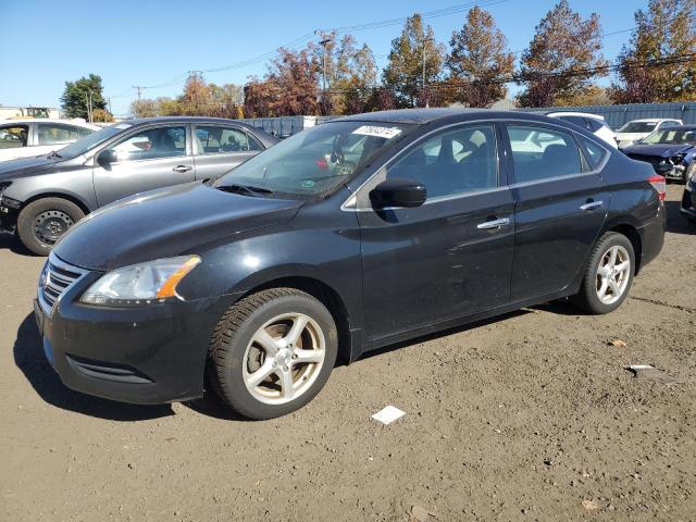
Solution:
<path fill-rule="evenodd" d="M 634 273 L 635 252 L 631 240 L 623 234 L 608 232 L 595 244 L 580 291 L 571 297 L 571 302 L 587 313 L 609 313 L 629 296 Z"/>

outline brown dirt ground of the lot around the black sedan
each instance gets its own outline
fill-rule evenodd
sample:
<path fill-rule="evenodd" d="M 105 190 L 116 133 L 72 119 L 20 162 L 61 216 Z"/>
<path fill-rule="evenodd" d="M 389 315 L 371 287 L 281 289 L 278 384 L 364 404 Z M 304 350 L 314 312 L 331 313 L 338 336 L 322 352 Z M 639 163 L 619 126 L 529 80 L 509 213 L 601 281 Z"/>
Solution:
<path fill-rule="evenodd" d="M 65 388 L 30 314 L 44 260 L 0 236 L 0 519 L 695 520 L 696 226 L 681 194 L 669 186 L 664 249 L 614 313 L 552 303 L 419 339 L 337 368 L 266 422 Z M 624 369 L 639 363 L 681 382 Z M 373 421 L 386 405 L 406 417 Z"/>

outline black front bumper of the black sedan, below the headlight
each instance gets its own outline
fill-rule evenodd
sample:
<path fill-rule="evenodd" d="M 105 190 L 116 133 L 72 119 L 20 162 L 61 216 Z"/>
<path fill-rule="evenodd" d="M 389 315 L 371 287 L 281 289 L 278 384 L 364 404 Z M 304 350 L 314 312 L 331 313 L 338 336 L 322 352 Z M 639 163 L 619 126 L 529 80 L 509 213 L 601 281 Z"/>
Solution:
<path fill-rule="evenodd" d="M 116 309 L 80 304 L 101 274 L 87 274 L 50 309 L 35 301 L 47 359 L 65 386 L 123 402 L 201 397 L 222 298 Z M 222 308 L 220 308 L 222 307 Z"/>

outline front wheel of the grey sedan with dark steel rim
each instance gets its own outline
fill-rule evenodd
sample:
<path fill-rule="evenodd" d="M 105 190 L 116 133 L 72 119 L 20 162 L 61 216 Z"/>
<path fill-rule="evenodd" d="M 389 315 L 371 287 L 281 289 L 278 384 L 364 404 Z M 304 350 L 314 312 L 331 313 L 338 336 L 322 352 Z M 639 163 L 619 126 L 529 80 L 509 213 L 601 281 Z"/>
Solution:
<path fill-rule="evenodd" d="M 32 252 L 48 256 L 55 241 L 84 216 L 82 209 L 66 199 L 37 199 L 20 212 L 17 235 Z"/>

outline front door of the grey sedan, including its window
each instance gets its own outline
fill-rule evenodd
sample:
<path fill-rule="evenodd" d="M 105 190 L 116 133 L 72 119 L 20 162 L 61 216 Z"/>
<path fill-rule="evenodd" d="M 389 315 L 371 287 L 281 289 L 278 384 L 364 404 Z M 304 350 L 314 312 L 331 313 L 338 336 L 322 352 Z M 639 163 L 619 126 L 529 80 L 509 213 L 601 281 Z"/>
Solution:
<path fill-rule="evenodd" d="M 95 162 L 94 179 L 99 207 L 153 188 L 195 181 L 187 125 L 156 125 L 134 130 L 110 145 L 116 161 Z"/>

